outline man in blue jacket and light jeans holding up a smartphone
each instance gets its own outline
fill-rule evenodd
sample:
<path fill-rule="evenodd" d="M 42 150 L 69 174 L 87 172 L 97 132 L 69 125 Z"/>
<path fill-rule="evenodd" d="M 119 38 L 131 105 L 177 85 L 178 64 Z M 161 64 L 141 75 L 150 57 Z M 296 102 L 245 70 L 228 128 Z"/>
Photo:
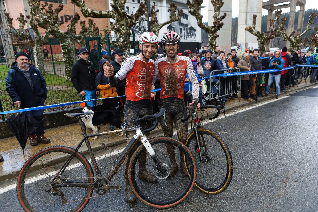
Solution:
<path fill-rule="evenodd" d="M 282 70 L 284 67 L 284 64 L 285 64 L 285 61 L 281 58 L 280 51 L 275 51 L 275 58 L 271 60 L 268 67 L 270 69 Z M 271 72 L 269 74 L 269 77 L 267 80 L 267 86 L 265 90 L 265 96 L 268 96 L 268 92 L 272 85 L 273 80 L 275 80 L 275 86 L 276 86 L 275 98 L 278 99 L 278 95 L 280 93 L 280 71 Z"/>

